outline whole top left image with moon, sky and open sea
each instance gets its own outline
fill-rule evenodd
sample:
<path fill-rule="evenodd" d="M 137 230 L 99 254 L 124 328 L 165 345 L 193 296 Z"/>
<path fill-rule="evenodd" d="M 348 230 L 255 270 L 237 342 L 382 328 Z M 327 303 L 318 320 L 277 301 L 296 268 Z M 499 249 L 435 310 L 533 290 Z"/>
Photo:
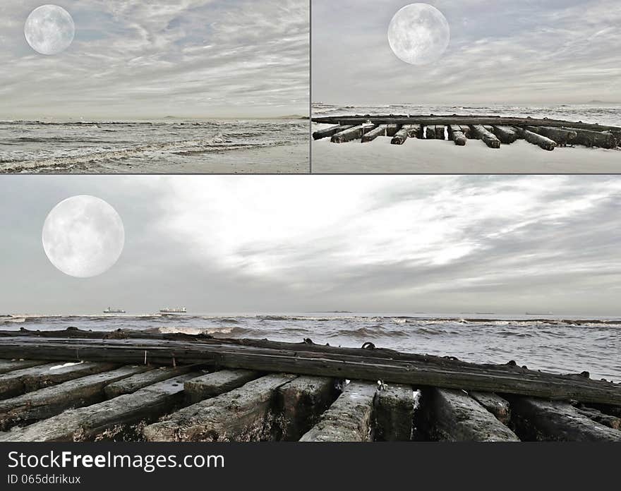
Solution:
<path fill-rule="evenodd" d="M 0 172 L 308 174 L 308 0 L 5 0 Z"/>

